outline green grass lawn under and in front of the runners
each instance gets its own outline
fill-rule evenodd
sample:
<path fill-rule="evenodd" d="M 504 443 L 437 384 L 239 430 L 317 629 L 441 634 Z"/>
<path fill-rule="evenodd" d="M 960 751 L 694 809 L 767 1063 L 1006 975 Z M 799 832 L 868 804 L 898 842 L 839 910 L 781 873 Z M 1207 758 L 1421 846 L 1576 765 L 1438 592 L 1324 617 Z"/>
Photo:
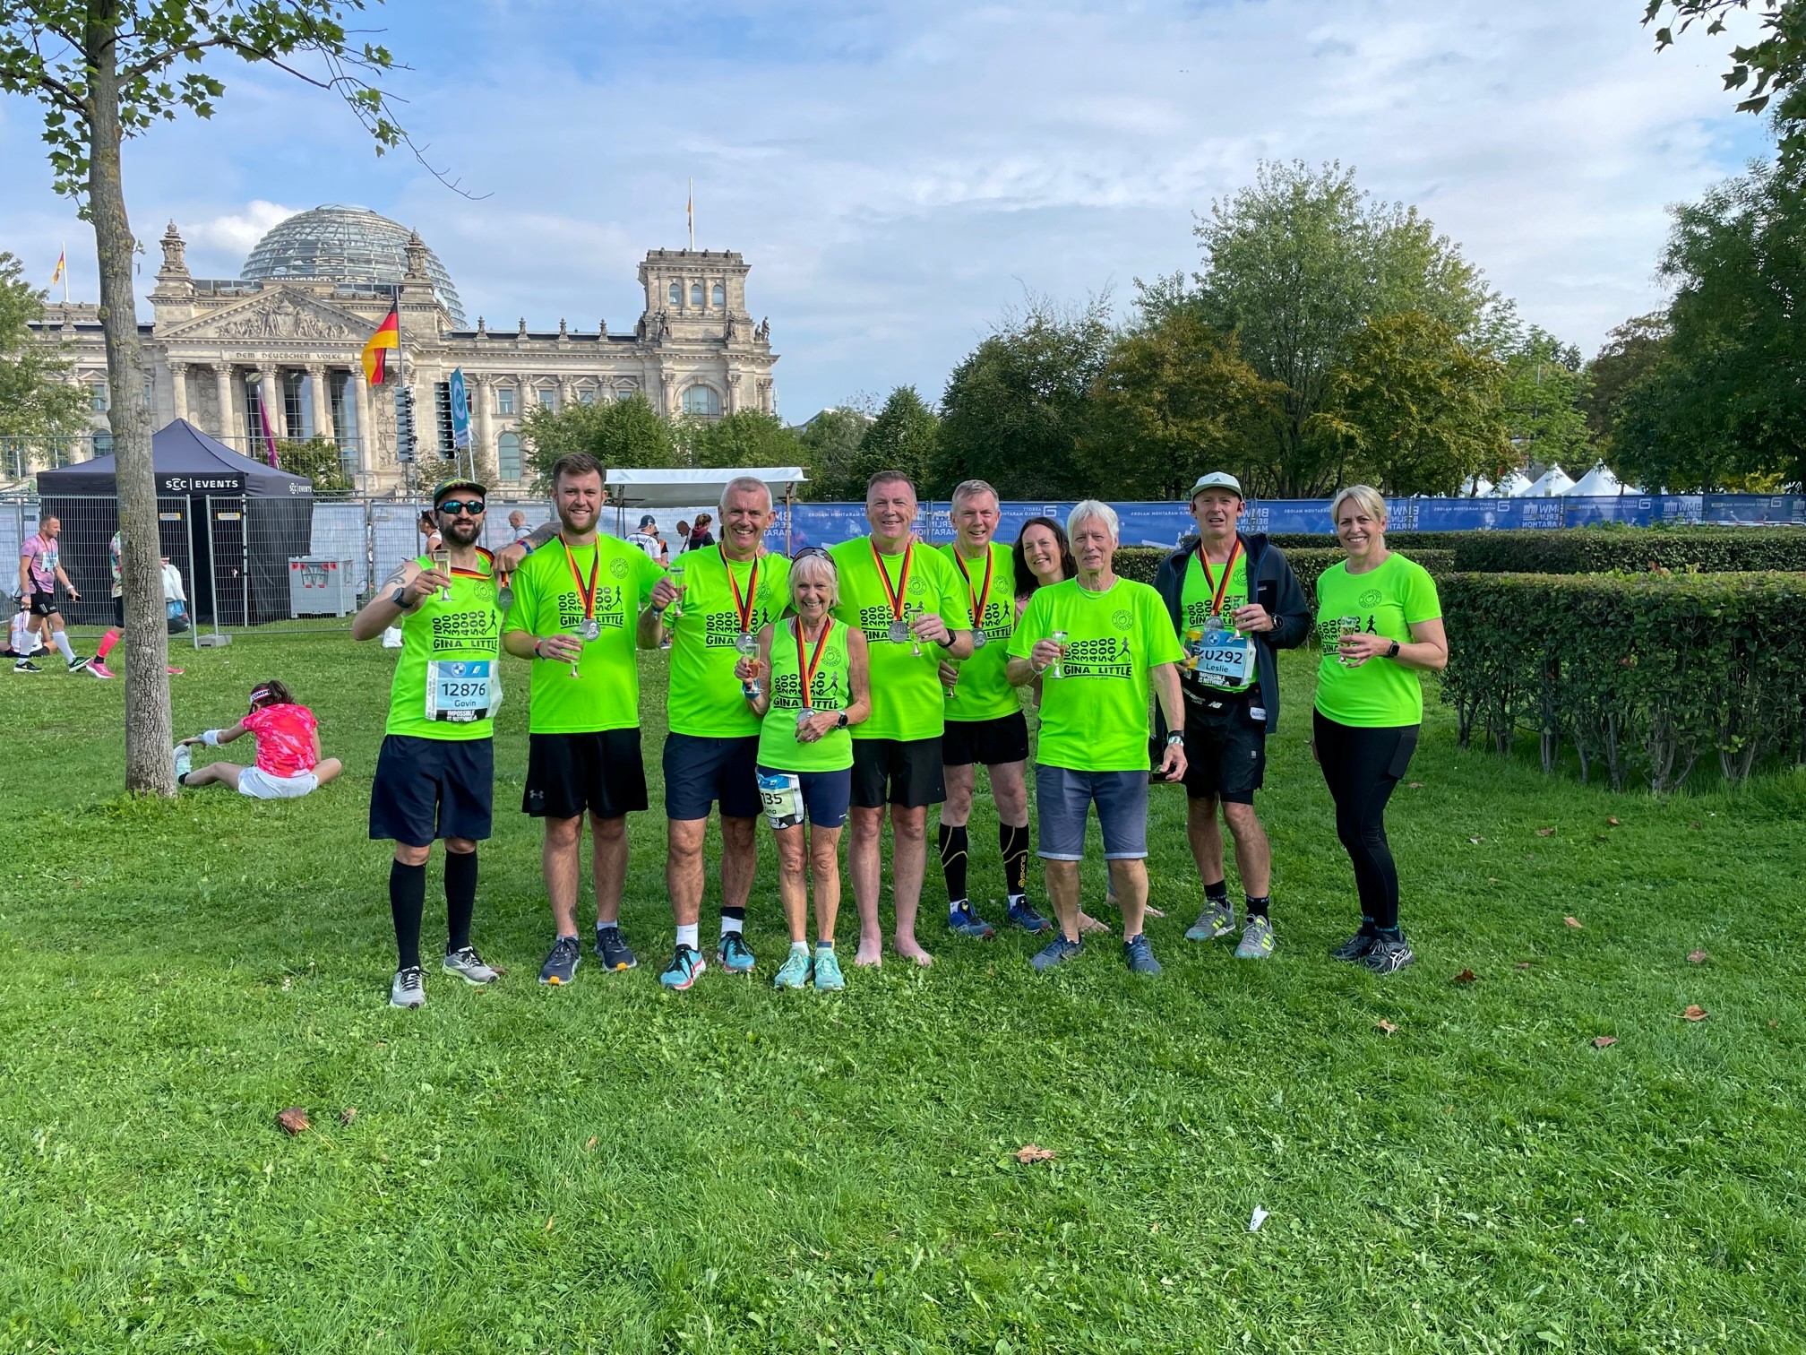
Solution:
<path fill-rule="evenodd" d="M 1463 752 L 1438 710 L 1392 811 L 1420 963 L 1382 981 L 1324 954 L 1356 909 L 1286 656 L 1270 963 L 1181 939 L 1161 790 L 1159 979 L 1114 945 L 1040 976 L 1029 938 L 936 923 L 932 970 L 775 994 L 766 840 L 759 976 L 663 994 L 648 813 L 641 968 L 545 990 L 513 665 L 477 912 L 511 974 L 430 974 L 408 1014 L 365 838 L 392 658 L 181 650 L 182 734 L 269 676 L 320 714 L 347 773 L 291 804 L 126 802 L 123 683 L 0 674 L 0 1350 L 1806 1348 L 1799 773 L 1613 797 Z M 656 771 L 659 656 L 645 678 Z M 981 900 L 993 822 L 981 797 Z M 851 950 L 851 891 L 843 918 Z"/>

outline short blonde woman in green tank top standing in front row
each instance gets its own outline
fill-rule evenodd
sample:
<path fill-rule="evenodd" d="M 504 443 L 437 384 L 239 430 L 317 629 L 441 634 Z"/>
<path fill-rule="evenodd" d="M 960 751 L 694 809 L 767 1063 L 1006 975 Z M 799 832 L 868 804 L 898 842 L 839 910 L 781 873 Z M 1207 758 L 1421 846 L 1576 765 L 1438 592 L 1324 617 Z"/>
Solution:
<path fill-rule="evenodd" d="M 759 632 L 759 658 L 740 659 L 740 681 L 759 679 L 749 697 L 759 732 L 759 777 L 796 777 L 804 826 L 777 827 L 778 894 L 789 923 L 791 950 L 777 974 L 778 988 L 842 988 L 834 956 L 834 918 L 840 912 L 840 833 L 852 797 L 852 735 L 849 728 L 872 714 L 867 685 L 865 634 L 829 612 L 840 600 L 833 558 L 820 547 L 796 555 L 789 573 L 793 616 Z M 769 800 L 768 800 L 769 802 Z M 807 941 L 809 892 L 804 871 L 815 876 L 815 952 Z"/>

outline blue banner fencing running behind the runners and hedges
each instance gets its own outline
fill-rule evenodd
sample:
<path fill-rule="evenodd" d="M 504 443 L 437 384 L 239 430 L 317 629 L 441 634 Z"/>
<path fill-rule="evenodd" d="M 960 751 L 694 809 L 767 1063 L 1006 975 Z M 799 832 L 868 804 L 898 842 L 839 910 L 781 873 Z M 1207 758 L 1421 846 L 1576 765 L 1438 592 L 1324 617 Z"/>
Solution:
<path fill-rule="evenodd" d="M 930 546 L 954 538 L 950 504 L 923 504 L 916 531 Z M 1192 515 L 1185 504 L 1111 504 L 1122 520 L 1123 546 L 1174 547 L 1192 535 Z M 997 540 L 1013 542 L 1031 517 L 1051 517 L 1062 526 L 1073 502 L 1001 504 Z M 1392 499 L 1387 504 L 1392 531 L 1521 531 L 1535 528 L 1587 528 L 1616 522 L 1649 528 L 1658 522 L 1723 526 L 1806 526 L 1806 495 L 1754 493 L 1681 493 L 1613 495 L 1598 499 Z M 833 546 L 869 531 L 865 504 L 795 504 L 789 511 L 789 549 Z M 1250 499 L 1243 517 L 1244 531 L 1315 531 L 1327 535 L 1327 499 Z M 766 537 L 773 551 L 782 551 L 786 519 Z"/>

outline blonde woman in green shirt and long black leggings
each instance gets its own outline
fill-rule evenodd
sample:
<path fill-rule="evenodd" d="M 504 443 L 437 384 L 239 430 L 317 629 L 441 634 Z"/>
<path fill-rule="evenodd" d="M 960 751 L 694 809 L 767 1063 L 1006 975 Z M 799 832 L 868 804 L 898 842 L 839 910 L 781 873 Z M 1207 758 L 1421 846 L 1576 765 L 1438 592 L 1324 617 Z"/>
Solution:
<path fill-rule="evenodd" d="M 1354 865 L 1360 930 L 1331 954 L 1392 974 L 1414 956 L 1398 927 L 1398 867 L 1385 840 L 1385 802 L 1423 724 L 1418 670 L 1448 665 L 1436 580 L 1385 549 L 1385 500 L 1354 484 L 1329 504 L 1349 553 L 1317 580 L 1317 670 L 1311 752 L 1336 802 L 1336 836 Z"/>

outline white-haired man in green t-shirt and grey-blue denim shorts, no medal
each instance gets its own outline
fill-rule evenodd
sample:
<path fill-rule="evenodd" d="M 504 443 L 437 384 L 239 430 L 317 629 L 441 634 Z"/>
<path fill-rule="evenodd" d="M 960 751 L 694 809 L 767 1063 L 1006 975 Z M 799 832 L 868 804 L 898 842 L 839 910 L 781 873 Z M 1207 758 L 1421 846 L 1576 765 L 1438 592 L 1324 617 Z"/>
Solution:
<path fill-rule="evenodd" d="M 1183 649 L 1167 603 L 1147 584 L 1118 578 L 1116 511 L 1094 499 L 1073 508 L 1066 533 L 1078 578 L 1037 589 L 1010 636 L 1004 668 L 1015 687 L 1042 679 L 1035 802 L 1047 900 L 1060 934 L 1035 968 L 1084 948 L 1078 932 L 1078 864 L 1085 818 L 1098 809 L 1103 858 L 1123 912 L 1123 958 L 1136 974 L 1159 974 L 1141 930 L 1147 912 L 1147 688 L 1152 681 L 1168 730 L 1185 728 L 1179 690 Z M 1185 775 L 1185 735 L 1168 734 L 1159 773 Z"/>

